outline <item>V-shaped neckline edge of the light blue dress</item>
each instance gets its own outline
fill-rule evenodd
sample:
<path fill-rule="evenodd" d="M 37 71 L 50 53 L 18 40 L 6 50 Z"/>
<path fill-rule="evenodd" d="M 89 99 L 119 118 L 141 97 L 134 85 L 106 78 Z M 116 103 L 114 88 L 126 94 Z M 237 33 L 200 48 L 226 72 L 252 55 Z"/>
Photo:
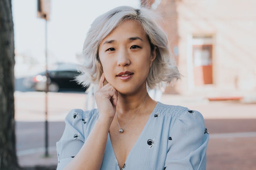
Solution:
<path fill-rule="evenodd" d="M 143 136 L 143 134 L 144 134 L 144 131 L 147 129 L 147 126 L 148 126 L 148 124 L 149 124 L 149 122 L 150 122 L 150 119 L 151 119 L 153 113 L 156 112 L 157 106 L 158 106 L 159 104 L 160 104 L 160 102 L 157 101 L 157 103 L 156 103 L 156 105 L 155 105 L 155 108 L 153 109 L 152 113 L 151 113 L 150 116 L 148 117 L 148 120 L 147 120 L 147 122 L 146 122 L 146 124 L 145 124 L 143 130 L 141 131 L 140 136 L 138 137 L 138 139 L 137 139 L 136 142 L 134 143 L 133 147 L 131 148 L 131 150 L 130 150 L 130 152 L 129 152 L 129 154 L 128 154 L 126 160 L 125 160 L 125 163 L 127 162 L 127 160 L 129 160 L 129 157 L 130 157 L 132 151 L 133 151 L 134 148 L 136 147 L 138 141 L 140 141 L 140 139 L 142 138 L 142 136 Z M 115 158 L 116 158 L 115 151 L 114 151 L 114 149 L 113 149 L 113 146 L 112 146 L 112 143 L 111 143 L 111 139 L 110 139 L 110 134 L 109 134 L 109 133 L 108 133 L 108 139 L 109 139 L 109 141 L 110 141 L 111 150 L 112 150 L 112 152 L 113 152 L 113 154 L 114 154 L 114 156 L 115 156 Z M 117 158 L 116 158 L 116 165 L 118 166 Z M 122 165 L 122 166 L 124 166 L 124 165 Z M 119 168 L 119 166 L 118 166 L 118 168 Z M 120 169 L 120 168 L 119 168 L 119 169 Z"/>

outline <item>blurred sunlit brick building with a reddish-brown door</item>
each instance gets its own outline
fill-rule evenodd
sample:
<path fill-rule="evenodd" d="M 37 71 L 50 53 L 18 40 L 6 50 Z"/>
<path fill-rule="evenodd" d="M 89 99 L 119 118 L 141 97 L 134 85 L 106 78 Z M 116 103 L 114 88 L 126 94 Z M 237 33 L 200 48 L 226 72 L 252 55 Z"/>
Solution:
<path fill-rule="evenodd" d="M 256 1 L 141 0 L 161 13 L 184 75 L 166 93 L 205 97 L 256 92 Z"/>

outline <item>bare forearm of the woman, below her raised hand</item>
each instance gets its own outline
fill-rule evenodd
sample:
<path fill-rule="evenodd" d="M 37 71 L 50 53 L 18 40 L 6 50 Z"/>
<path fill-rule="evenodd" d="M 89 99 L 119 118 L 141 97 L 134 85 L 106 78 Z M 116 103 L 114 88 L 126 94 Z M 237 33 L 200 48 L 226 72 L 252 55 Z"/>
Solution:
<path fill-rule="evenodd" d="M 108 132 L 113 119 L 99 118 L 83 147 L 65 170 L 99 170 L 102 164 Z"/>

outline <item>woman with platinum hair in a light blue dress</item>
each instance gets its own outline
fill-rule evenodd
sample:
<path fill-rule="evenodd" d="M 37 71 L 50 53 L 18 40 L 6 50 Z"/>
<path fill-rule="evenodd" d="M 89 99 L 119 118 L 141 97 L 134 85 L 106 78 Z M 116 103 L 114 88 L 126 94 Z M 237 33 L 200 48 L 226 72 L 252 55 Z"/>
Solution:
<path fill-rule="evenodd" d="M 98 109 L 69 112 L 57 142 L 57 169 L 206 168 L 209 135 L 202 115 L 147 93 L 147 85 L 180 78 L 152 11 L 120 6 L 99 16 L 83 55 L 87 62 L 76 79 L 98 83 Z"/>

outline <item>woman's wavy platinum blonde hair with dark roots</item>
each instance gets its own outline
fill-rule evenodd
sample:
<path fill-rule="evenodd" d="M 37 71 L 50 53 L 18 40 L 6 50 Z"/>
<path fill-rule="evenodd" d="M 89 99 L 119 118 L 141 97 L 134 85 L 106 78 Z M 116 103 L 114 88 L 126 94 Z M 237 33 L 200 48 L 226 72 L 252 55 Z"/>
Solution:
<path fill-rule="evenodd" d="M 91 24 L 84 41 L 82 55 L 85 63 L 77 65 L 77 70 L 81 74 L 76 76 L 75 80 L 84 87 L 89 83 L 98 84 L 103 73 L 98 55 L 99 45 L 126 20 L 138 21 L 150 41 L 151 52 L 156 49 L 156 58 L 146 79 L 148 87 L 154 88 L 156 85 L 160 86 L 161 82 L 170 83 L 173 79 L 180 79 L 181 74 L 169 51 L 167 36 L 158 26 L 157 19 L 158 15 L 147 8 L 136 9 L 130 6 L 119 6 L 97 17 Z"/>

